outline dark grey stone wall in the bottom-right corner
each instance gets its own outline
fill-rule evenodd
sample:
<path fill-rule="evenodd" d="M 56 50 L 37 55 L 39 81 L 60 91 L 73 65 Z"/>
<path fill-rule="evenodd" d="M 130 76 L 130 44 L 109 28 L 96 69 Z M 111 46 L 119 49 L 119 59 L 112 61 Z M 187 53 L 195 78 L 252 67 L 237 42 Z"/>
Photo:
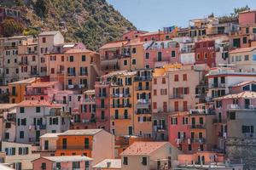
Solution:
<path fill-rule="evenodd" d="M 239 160 L 245 169 L 256 169 L 256 139 L 227 139 L 226 153 L 230 160 Z"/>

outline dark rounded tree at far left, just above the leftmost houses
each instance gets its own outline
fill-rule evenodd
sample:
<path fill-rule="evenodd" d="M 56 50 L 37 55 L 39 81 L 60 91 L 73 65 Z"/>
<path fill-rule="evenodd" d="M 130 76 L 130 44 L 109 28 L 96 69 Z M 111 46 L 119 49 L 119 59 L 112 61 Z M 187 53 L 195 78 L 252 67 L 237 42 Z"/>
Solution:
<path fill-rule="evenodd" d="M 23 30 L 24 30 L 24 27 L 20 24 L 20 22 L 14 19 L 3 20 L 3 36 L 4 37 L 12 37 L 15 35 L 20 35 L 20 33 Z"/>

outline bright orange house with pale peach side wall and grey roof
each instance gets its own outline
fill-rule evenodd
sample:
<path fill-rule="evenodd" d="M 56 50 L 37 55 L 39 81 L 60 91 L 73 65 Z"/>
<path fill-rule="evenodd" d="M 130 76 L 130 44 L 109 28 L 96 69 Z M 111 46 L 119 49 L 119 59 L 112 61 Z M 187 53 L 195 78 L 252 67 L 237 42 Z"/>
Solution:
<path fill-rule="evenodd" d="M 104 141 L 104 144 L 102 144 Z M 93 165 L 114 158 L 114 137 L 103 129 L 67 130 L 59 135 L 55 156 L 89 156 Z"/>

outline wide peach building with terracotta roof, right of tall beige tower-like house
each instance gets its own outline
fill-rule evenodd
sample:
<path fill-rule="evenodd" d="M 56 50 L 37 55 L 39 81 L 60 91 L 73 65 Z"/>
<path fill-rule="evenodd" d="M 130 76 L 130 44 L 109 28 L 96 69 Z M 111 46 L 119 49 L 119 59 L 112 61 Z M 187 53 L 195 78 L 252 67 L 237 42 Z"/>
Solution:
<path fill-rule="evenodd" d="M 99 55 L 82 48 L 71 48 L 61 54 L 47 54 L 49 78 L 64 83 L 65 89 L 94 88 L 99 76 Z"/>

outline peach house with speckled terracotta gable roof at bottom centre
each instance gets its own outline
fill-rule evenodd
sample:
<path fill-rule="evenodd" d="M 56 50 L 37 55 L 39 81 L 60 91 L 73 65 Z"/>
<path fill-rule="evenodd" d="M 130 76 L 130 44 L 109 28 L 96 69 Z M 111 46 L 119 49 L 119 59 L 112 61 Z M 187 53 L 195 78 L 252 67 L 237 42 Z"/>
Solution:
<path fill-rule="evenodd" d="M 168 142 L 135 142 L 121 153 L 121 169 L 171 169 L 179 153 Z"/>

